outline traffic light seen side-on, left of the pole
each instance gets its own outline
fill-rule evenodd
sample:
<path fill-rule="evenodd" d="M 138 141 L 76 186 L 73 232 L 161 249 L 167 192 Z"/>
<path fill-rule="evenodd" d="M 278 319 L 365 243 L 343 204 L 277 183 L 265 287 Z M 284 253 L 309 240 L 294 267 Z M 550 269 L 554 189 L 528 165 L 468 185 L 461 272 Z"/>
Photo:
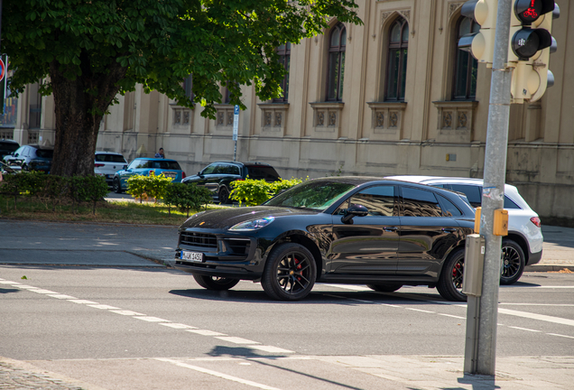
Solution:
<path fill-rule="evenodd" d="M 478 62 L 492 65 L 495 52 L 496 11 L 498 0 L 469 0 L 460 13 L 480 24 L 480 31 L 469 33 L 458 41 L 458 49 L 470 51 Z"/>

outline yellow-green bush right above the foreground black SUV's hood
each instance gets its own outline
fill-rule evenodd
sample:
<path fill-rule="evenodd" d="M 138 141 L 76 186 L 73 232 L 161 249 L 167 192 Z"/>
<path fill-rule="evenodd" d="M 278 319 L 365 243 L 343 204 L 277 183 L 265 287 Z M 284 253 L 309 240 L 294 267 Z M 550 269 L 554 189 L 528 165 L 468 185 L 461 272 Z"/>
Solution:
<path fill-rule="evenodd" d="M 301 183 L 301 179 L 292 178 L 267 182 L 264 180 L 245 179 L 245 181 L 232 181 L 231 199 L 237 200 L 239 204 L 245 201 L 247 206 L 256 206 L 270 200 L 282 190 L 287 190 Z"/>

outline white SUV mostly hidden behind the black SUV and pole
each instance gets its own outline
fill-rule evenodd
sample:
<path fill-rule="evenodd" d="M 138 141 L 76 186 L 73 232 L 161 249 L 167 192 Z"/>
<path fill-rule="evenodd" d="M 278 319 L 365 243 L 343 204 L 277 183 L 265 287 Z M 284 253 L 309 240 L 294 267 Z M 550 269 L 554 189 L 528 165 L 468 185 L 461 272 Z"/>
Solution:
<path fill-rule="evenodd" d="M 482 179 L 439 176 L 390 176 L 386 179 L 412 181 L 456 190 L 467 195 L 470 204 L 477 208 L 482 202 Z M 505 184 L 505 209 L 508 210 L 508 236 L 502 243 L 502 272 L 500 283 L 512 284 L 523 274 L 524 266 L 540 262 L 542 257 L 541 221 L 528 206 L 516 187 Z"/>

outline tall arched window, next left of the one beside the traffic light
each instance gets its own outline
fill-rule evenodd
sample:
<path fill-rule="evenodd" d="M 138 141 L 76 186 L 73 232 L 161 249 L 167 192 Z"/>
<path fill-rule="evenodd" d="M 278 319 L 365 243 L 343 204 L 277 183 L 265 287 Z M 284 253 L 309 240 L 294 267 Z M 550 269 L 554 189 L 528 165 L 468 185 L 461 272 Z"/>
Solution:
<path fill-rule="evenodd" d="M 399 17 L 391 25 L 389 32 L 385 99 L 403 101 L 409 51 L 409 24 L 402 17 Z"/>

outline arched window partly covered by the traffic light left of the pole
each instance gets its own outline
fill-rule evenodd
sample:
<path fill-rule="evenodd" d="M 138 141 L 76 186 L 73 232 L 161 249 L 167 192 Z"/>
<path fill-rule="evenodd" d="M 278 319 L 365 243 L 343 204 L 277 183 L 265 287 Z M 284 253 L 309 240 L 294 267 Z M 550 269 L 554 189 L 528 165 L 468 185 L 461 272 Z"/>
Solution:
<path fill-rule="evenodd" d="M 461 16 L 457 23 L 457 33 L 454 34 L 455 48 L 455 79 L 453 81 L 452 98 L 468 100 L 477 97 L 478 61 L 469 51 L 458 49 L 458 40 L 468 33 L 480 31 L 480 25 L 474 20 Z"/>

